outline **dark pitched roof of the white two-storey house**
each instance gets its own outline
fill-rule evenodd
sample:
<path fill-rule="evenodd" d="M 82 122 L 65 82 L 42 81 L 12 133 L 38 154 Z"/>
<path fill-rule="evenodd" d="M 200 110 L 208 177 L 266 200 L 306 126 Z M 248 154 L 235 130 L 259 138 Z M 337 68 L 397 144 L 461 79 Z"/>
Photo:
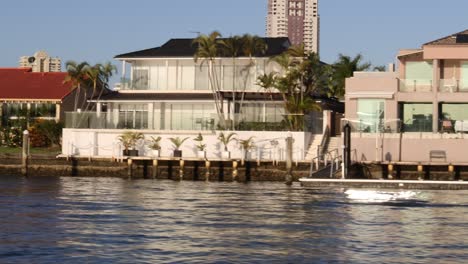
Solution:
<path fill-rule="evenodd" d="M 266 45 L 265 54 L 256 54 L 256 57 L 270 57 L 286 51 L 291 43 L 286 37 L 262 38 Z M 114 58 L 158 58 L 158 57 L 193 57 L 196 52 L 194 39 L 170 39 L 161 47 L 144 49 L 115 56 Z M 219 40 L 222 40 L 219 39 Z"/>

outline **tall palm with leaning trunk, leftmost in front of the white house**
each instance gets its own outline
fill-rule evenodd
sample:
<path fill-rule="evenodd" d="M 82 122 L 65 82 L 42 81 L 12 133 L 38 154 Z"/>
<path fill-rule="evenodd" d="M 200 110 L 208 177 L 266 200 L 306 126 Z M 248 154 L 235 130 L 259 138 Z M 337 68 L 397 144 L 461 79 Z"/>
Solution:
<path fill-rule="evenodd" d="M 225 122 L 220 94 L 221 89 L 215 67 L 215 58 L 219 56 L 219 37 L 221 37 L 221 34 L 218 31 L 213 31 L 209 35 L 200 34 L 193 40 L 193 44 L 197 45 L 194 61 L 198 62 L 198 59 L 202 58 L 200 68 L 203 64 L 208 63 L 208 79 L 210 82 L 210 88 L 213 93 L 213 99 L 215 101 L 216 112 L 218 113 L 220 124 L 224 127 Z"/>

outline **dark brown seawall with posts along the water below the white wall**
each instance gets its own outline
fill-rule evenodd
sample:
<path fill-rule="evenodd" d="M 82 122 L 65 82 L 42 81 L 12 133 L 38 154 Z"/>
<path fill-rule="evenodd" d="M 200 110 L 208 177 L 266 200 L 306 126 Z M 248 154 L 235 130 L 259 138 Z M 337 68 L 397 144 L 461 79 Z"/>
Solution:
<path fill-rule="evenodd" d="M 285 181 L 286 164 L 272 162 L 212 160 L 206 167 L 205 160 L 186 160 L 181 170 L 179 159 L 160 159 L 153 167 L 152 160 L 133 160 L 131 178 L 156 178 L 172 180 L 210 181 Z M 293 180 L 309 174 L 309 164 L 293 165 Z M 21 158 L 18 154 L 0 155 L 0 175 L 21 176 Z M 56 158 L 51 155 L 32 155 L 28 163 L 29 176 L 69 176 L 69 177 L 120 177 L 128 178 L 129 165 L 126 159 Z M 234 178 L 234 175 L 236 178 Z"/>

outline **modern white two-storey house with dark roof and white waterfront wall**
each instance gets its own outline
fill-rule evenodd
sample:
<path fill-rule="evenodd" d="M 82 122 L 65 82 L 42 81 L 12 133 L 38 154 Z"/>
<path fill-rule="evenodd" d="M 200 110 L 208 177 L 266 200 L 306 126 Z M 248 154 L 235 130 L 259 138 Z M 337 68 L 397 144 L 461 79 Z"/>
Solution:
<path fill-rule="evenodd" d="M 113 93 L 95 97 L 96 112 L 67 113 L 63 154 L 120 156 L 118 135 L 128 129 L 145 138 L 161 136 L 162 156 L 170 156 L 168 138 L 194 138 L 201 133 L 211 157 L 220 157 L 216 140 L 220 129 L 235 132 L 239 139 L 254 137 L 256 155 L 284 156 L 287 127 L 282 123 L 284 103 L 277 91 L 258 86 L 257 77 L 281 67 L 269 59 L 286 51 L 288 38 L 264 38 L 267 49 L 254 56 L 219 56 L 213 59 L 213 74 L 203 58 L 194 60 L 193 39 L 171 39 L 160 47 L 120 54 L 122 81 Z M 211 81 L 210 81 L 211 78 Z M 213 83 L 219 90 L 213 92 Z M 220 109 L 215 101 L 218 100 Z M 322 113 L 317 114 L 321 117 Z M 322 124 L 318 130 L 321 134 Z M 304 159 L 312 133 L 293 132 L 295 159 Z M 261 132 L 260 132 L 261 131 Z M 232 142 L 232 157 L 241 149 Z M 145 155 L 147 145 L 138 146 Z M 184 143 L 184 157 L 195 157 L 195 144 Z M 272 158 L 273 159 L 273 158 Z"/>

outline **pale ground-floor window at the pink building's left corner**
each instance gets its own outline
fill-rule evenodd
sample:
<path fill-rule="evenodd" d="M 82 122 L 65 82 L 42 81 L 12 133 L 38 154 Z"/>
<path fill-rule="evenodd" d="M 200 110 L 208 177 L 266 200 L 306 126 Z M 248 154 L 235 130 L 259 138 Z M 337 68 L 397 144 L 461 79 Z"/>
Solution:
<path fill-rule="evenodd" d="M 373 133 L 378 131 L 384 125 L 384 109 L 383 99 L 358 99 L 359 130 Z"/>

